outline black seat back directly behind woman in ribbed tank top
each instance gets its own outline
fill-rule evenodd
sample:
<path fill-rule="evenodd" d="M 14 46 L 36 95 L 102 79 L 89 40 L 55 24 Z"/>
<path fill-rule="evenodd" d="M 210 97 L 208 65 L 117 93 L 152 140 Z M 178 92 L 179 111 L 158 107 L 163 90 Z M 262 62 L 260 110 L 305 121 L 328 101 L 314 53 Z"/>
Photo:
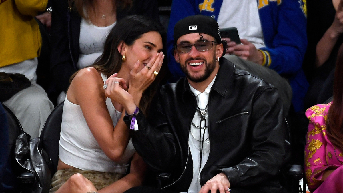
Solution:
<path fill-rule="evenodd" d="M 51 168 L 51 175 L 54 175 L 57 171 L 63 104 L 64 102 L 59 104 L 50 113 L 40 134 L 43 149 L 48 153 L 52 161 L 53 168 Z"/>

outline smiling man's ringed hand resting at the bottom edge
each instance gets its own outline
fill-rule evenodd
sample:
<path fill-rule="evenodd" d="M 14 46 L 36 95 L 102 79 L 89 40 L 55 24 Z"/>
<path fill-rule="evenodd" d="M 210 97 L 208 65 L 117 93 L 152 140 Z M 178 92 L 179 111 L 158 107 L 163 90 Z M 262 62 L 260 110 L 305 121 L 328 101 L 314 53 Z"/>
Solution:
<path fill-rule="evenodd" d="M 216 193 L 219 190 L 220 193 L 229 193 L 227 190 L 230 188 L 230 182 L 224 173 L 219 173 L 211 178 L 209 181 L 203 185 L 199 193 Z"/>

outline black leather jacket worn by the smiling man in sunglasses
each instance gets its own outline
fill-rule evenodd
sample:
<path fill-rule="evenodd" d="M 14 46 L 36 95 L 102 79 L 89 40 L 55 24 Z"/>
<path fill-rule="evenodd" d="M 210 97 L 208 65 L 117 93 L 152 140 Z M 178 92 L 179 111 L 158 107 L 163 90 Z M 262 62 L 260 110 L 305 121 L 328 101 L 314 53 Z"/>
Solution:
<path fill-rule="evenodd" d="M 156 94 L 148 119 L 136 115 L 138 131 L 132 142 L 156 172 L 173 171 L 175 182 L 166 188 L 187 191 L 193 166 L 188 137 L 197 101 L 186 78 L 167 84 Z M 129 117 L 124 117 L 130 125 Z M 209 158 L 200 184 L 224 172 L 231 187 L 251 186 L 282 192 L 278 172 L 289 154 L 286 122 L 275 87 L 222 58 L 208 103 Z"/>

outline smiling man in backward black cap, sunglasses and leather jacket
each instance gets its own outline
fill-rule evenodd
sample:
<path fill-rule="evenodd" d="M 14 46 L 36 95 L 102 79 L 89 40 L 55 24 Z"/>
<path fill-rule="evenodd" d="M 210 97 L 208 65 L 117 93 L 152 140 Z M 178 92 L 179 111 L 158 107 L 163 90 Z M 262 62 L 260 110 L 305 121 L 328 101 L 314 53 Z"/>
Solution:
<path fill-rule="evenodd" d="M 127 192 L 283 192 L 277 173 L 288 151 L 275 87 L 222 58 L 217 22 L 195 15 L 174 29 L 175 60 L 186 78 L 162 87 L 149 118 L 123 104 L 135 149 L 156 172 L 172 172 L 163 190 Z"/>

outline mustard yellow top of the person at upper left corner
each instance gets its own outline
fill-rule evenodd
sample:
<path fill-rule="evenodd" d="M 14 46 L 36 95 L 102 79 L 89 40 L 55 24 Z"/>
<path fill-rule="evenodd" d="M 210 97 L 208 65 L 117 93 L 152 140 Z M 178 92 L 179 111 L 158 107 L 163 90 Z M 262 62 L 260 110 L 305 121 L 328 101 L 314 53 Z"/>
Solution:
<path fill-rule="evenodd" d="M 34 16 L 48 0 L 0 0 L 0 67 L 35 58 L 42 37 Z"/>

